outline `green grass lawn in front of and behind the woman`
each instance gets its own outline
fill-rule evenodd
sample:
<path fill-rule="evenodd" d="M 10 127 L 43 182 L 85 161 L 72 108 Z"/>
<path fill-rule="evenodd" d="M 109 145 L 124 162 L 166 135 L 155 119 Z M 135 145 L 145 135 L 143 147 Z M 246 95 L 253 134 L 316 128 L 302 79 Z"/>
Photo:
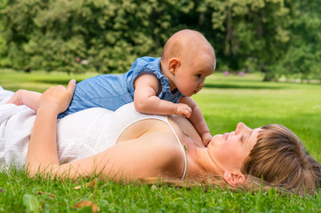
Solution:
<path fill-rule="evenodd" d="M 68 79 L 91 75 L 24 74 L 0 71 L 0 85 L 44 91 Z M 237 122 L 255 128 L 280 123 L 301 138 L 310 154 L 321 161 L 321 84 L 263 83 L 261 75 L 238 77 L 211 75 L 194 99 L 205 114 L 213 134 L 235 130 Z M 28 178 L 23 171 L 0 172 L 0 212 L 90 212 L 73 209 L 79 201 L 94 201 L 100 212 L 314 212 L 321 211 L 321 190 L 314 196 L 281 195 L 274 190 L 233 193 L 212 187 L 191 189 L 159 185 L 121 185 L 99 182 L 74 189 L 91 179 L 50 181 Z M 38 194 L 37 192 L 42 192 Z M 54 194 L 51 197 L 50 194 Z"/>

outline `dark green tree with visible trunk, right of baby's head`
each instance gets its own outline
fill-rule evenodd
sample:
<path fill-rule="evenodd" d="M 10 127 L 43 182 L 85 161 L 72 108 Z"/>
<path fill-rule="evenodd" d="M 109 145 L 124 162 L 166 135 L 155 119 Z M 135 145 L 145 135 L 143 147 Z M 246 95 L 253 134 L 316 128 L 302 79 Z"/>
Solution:
<path fill-rule="evenodd" d="M 221 30 L 220 52 L 231 69 L 276 63 L 289 41 L 289 8 L 284 0 L 206 0 L 213 29 Z M 265 69 L 265 68 L 264 68 Z"/>

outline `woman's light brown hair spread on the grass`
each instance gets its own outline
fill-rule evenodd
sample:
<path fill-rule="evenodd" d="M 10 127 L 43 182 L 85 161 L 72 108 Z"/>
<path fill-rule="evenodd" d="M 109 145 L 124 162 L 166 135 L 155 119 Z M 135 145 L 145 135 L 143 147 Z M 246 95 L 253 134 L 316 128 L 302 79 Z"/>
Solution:
<path fill-rule="evenodd" d="M 279 124 L 261 128 L 241 171 L 249 179 L 260 178 L 269 186 L 299 194 L 314 193 L 321 183 L 320 163 L 292 130 Z"/>

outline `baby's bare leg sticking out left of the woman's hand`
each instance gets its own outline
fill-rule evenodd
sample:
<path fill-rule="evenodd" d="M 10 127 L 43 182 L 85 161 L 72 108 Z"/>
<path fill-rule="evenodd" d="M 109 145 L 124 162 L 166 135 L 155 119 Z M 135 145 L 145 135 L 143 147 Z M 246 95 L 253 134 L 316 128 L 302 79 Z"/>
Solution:
<path fill-rule="evenodd" d="M 15 104 L 18 106 L 27 105 L 36 111 L 39 107 L 40 96 L 40 92 L 19 90 L 14 92 L 12 98 L 8 100 L 7 104 Z"/>

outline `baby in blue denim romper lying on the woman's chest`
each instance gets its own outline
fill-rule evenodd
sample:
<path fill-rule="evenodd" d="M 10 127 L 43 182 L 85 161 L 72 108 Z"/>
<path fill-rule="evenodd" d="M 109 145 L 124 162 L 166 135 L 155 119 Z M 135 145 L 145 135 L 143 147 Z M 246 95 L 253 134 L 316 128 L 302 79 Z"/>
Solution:
<path fill-rule="evenodd" d="M 197 31 L 184 29 L 165 43 L 160 58 L 136 59 L 124 75 L 97 75 L 76 84 L 76 91 L 62 118 L 90 107 L 116 110 L 134 102 L 143 114 L 179 114 L 189 118 L 207 146 L 212 136 L 197 103 L 190 97 L 204 87 L 213 74 L 213 47 Z M 36 110 L 40 93 L 17 91 L 8 103 Z"/>

